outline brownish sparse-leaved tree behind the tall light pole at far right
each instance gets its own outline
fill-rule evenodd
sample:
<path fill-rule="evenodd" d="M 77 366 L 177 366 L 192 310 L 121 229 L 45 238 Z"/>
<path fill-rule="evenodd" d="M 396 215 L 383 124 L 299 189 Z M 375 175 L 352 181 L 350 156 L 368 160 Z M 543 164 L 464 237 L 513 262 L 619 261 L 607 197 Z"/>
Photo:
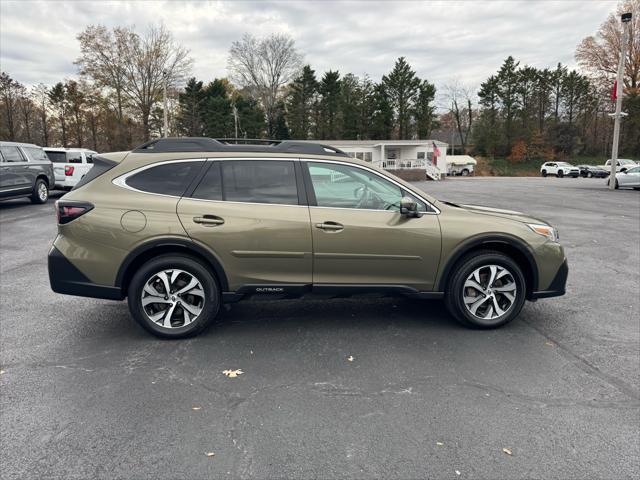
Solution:
<path fill-rule="evenodd" d="M 610 14 L 595 36 L 590 35 L 580 42 L 576 49 L 576 60 L 594 78 L 610 86 L 611 79 L 618 71 L 622 43 L 620 15 L 625 12 L 632 12 L 633 16 L 627 46 L 624 86 L 638 89 L 640 88 L 640 0 L 620 2 L 617 14 Z"/>

